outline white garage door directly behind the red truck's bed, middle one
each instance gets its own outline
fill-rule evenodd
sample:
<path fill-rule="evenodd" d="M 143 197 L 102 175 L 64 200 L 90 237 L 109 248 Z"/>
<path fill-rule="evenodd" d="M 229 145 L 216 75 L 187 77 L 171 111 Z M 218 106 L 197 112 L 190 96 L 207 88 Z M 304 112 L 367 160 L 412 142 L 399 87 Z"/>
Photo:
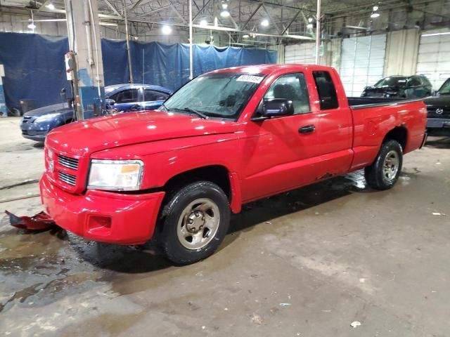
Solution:
<path fill-rule="evenodd" d="M 385 52 L 386 34 L 342 39 L 340 76 L 348 96 L 383 78 Z"/>

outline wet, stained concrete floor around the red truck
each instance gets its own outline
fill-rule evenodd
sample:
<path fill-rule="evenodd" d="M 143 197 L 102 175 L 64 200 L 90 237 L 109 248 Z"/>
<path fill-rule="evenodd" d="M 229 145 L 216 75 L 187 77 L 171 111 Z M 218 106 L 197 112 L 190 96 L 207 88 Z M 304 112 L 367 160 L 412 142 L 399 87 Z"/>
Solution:
<path fill-rule="evenodd" d="M 0 187 L 43 171 L 42 145 L 21 138 L 18 123 L 0 119 Z M 1 189 L 1 208 L 41 211 L 37 192 L 37 183 Z M 357 172 L 250 204 L 221 249 L 187 267 L 151 245 L 29 234 L 0 216 L 0 331 L 450 336 L 449 201 L 450 138 L 432 138 L 406 156 L 392 190 L 365 188 Z"/>

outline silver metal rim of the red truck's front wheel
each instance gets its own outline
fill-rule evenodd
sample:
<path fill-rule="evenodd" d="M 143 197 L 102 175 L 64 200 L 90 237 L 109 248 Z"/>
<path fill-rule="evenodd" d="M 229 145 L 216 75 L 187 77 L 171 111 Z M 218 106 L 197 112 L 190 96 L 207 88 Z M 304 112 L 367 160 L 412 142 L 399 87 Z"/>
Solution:
<path fill-rule="evenodd" d="M 176 234 L 184 248 L 202 249 L 216 236 L 219 223 L 217 204 L 207 198 L 195 199 L 181 212 Z"/>

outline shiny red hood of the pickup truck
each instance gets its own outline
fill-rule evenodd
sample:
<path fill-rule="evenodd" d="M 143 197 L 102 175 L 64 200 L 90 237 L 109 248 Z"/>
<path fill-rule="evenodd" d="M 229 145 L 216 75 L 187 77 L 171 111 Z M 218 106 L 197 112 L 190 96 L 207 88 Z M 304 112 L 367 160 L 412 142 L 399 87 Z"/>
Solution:
<path fill-rule="evenodd" d="M 200 119 L 173 112 L 128 112 L 61 126 L 46 137 L 58 152 L 88 156 L 113 147 L 219 133 L 234 133 L 233 121 Z"/>

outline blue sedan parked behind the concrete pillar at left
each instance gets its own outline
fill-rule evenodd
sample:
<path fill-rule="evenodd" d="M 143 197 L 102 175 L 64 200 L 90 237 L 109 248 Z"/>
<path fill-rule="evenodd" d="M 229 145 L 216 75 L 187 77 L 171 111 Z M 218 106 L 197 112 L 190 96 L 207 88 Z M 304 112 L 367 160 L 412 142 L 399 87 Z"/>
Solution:
<path fill-rule="evenodd" d="M 172 91 L 149 84 L 115 84 L 105 87 L 106 109 L 110 112 L 155 110 L 164 103 Z M 23 114 L 20 129 L 27 139 L 42 142 L 47 133 L 75 120 L 68 103 L 39 107 Z"/>

